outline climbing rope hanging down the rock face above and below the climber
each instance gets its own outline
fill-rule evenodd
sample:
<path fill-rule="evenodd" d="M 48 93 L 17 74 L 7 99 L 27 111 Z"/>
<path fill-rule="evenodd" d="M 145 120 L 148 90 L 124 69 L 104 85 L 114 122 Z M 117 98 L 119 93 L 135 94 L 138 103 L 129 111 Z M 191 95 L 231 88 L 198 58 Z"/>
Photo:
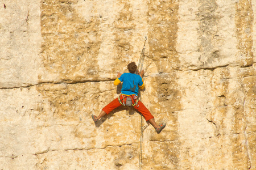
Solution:
<path fill-rule="evenodd" d="M 145 52 L 145 48 L 146 48 L 146 41 L 147 41 L 147 36 L 145 36 L 144 46 L 143 46 L 143 49 L 141 51 L 141 57 L 139 58 L 138 70 L 141 69 L 141 70 L 139 70 L 140 73 L 142 71 L 143 63 L 144 63 L 144 57 L 145 57 L 144 52 Z M 137 74 L 137 71 L 136 71 L 136 74 Z M 141 96 L 140 96 L 140 100 L 141 100 Z M 140 142 L 140 145 L 139 145 L 139 169 L 142 168 L 143 131 L 147 128 L 148 125 L 150 125 L 150 124 L 147 124 L 147 125 L 143 126 L 142 114 L 141 114 L 141 142 Z"/>

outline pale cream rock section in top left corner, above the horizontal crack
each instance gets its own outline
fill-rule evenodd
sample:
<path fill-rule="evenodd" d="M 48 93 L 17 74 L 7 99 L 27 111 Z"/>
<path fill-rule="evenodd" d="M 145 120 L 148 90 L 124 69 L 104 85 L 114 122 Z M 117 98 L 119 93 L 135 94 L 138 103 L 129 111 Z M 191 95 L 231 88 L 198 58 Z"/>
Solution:
<path fill-rule="evenodd" d="M 0 88 L 38 83 L 40 1 L 2 1 L 0 13 Z"/>

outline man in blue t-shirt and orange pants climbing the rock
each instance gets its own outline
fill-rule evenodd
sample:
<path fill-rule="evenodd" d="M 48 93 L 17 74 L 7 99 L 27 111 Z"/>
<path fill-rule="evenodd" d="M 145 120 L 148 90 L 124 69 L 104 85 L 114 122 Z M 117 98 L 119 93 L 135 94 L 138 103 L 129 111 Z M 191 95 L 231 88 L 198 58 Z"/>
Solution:
<path fill-rule="evenodd" d="M 117 99 L 114 99 L 112 102 L 106 105 L 106 107 L 102 109 L 99 116 L 95 116 L 92 114 L 93 121 L 97 122 L 105 114 L 109 114 L 111 111 L 121 105 L 129 105 L 130 102 L 130 105 L 133 105 L 135 109 L 141 112 L 145 120 L 149 121 L 151 125 L 154 126 L 157 132 L 160 132 L 166 126 L 166 124 L 156 124 L 154 116 L 152 116 L 152 114 L 150 113 L 150 111 L 148 111 L 144 104 L 139 101 L 139 99 L 137 99 L 139 88 L 144 88 L 144 83 L 142 80 L 144 70 L 142 70 L 141 73 L 139 73 L 138 71 L 139 75 L 135 74 L 137 71 L 137 65 L 135 64 L 135 62 L 129 63 L 129 65 L 127 65 L 127 68 L 130 73 L 117 73 L 117 79 L 115 79 L 114 81 L 115 86 L 123 82 L 121 95 Z"/>

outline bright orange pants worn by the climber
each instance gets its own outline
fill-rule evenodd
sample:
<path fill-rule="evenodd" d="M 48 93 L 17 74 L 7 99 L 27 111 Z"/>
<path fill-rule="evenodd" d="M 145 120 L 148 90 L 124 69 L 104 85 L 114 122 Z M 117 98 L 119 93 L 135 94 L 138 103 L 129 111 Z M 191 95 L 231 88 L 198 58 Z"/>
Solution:
<path fill-rule="evenodd" d="M 131 95 L 131 97 L 134 97 L 134 95 Z M 120 99 L 123 103 L 123 95 L 120 96 Z M 126 102 L 127 97 L 125 97 L 125 102 Z M 134 104 L 134 100 L 131 100 Z M 136 101 L 136 100 L 135 100 Z M 111 111 L 113 111 L 115 108 L 118 108 L 122 104 L 119 103 L 118 98 L 114 99 L 112 102 L 110 102 L 108 105 L 106 105 L 102 111 L 106 112 L 106 114 L 109 114 Z M 139 112 L 142 113 L 143 117 L 145 118 L 146 121 L 150 120 L 151 118 L 154 118 L 150 111 L 144 106 L 144 104 L 141 101 L 138 101 L 138 104 L 134 106 L 135 109 L 137 109 Z"/>

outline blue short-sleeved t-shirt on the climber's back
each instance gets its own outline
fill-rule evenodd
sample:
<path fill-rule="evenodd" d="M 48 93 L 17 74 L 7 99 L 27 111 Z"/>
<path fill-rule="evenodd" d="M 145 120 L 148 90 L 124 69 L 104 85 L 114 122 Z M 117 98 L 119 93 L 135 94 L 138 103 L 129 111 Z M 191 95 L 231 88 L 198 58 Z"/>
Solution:
<path fill-rule="evenodd" d="M 121 93 L 123 95 L 137 95 L 139 86 L 142 86 L 142 78 L 140 75 L 133 73 L 123 73 L 119 78 L 123 82 Z"/>

